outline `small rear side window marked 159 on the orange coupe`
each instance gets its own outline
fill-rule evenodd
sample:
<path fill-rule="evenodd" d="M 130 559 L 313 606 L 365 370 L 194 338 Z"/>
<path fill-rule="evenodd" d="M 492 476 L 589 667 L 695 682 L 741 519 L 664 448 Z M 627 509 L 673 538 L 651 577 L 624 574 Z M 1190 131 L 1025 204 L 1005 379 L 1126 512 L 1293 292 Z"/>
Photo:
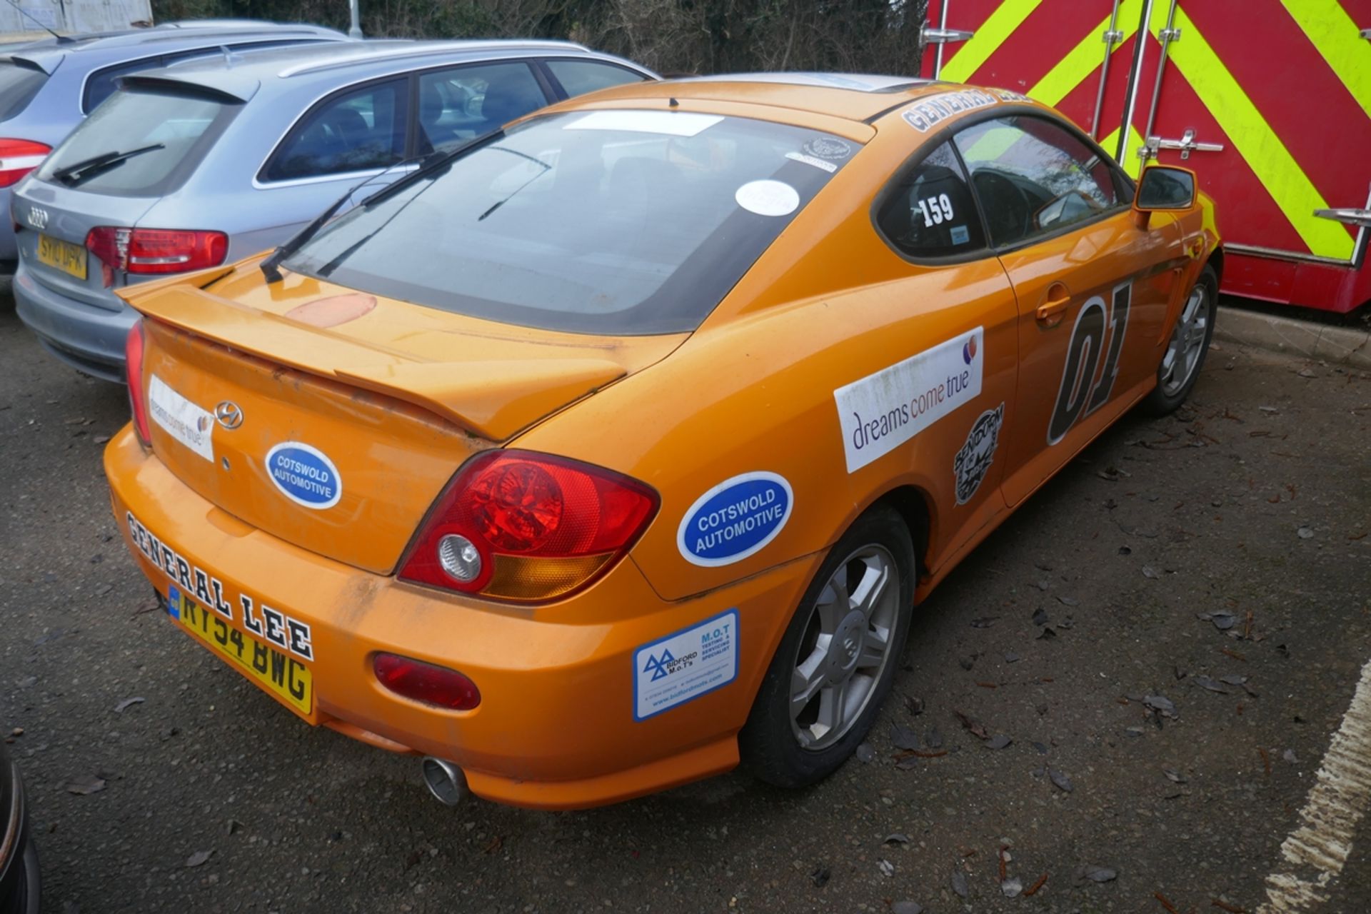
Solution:
<path fill-rule="evenodd" d="M 947 258 L 986 247 L 967 173 L 943 143 L 895 177 L 876 212 L 886 240 L 910 258 Z"/>

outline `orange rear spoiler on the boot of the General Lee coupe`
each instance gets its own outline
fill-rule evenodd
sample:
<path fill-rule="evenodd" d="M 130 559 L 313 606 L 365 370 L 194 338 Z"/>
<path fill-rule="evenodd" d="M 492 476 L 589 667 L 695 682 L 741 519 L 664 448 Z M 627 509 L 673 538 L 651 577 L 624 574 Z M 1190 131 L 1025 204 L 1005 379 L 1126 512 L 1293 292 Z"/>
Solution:
<path fill-rule="evenodd" d="M 214 273 L 192 275 L 197 285 L 200 277 L 208 285 Z M 529 425 L 531 415 L 542 418 L 627 374 L 621 365 L 585 358 L 420 360 L 221 299 L 178 278 L 180 284 L 137 286 L 121 297 L 163 323 L 267 362 L 411 403 L 488 441 L 511 439 Z"/>

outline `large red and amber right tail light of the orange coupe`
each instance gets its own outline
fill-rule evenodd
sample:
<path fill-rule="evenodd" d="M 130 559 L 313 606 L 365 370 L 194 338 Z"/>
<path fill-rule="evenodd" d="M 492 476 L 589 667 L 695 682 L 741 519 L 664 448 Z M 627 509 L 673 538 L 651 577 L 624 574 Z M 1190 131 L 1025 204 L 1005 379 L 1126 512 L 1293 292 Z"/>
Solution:
<path fill-rule="evenodd" d="M 439 497 L 400 578 L 495 600 L 553 600 L 609 571 L 658 504 L 648 486 L 602 467 L 487 451 Z"/>

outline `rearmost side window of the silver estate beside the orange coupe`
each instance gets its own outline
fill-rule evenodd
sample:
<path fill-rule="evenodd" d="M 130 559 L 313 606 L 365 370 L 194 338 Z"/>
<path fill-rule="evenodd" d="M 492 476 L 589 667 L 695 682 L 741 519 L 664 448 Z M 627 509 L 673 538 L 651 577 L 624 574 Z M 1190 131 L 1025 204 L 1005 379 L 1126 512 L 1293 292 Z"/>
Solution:
<path fill-rule="evenodd" d="M 404 156 L 406 79 L 328 99 L 295 125 L 266 169 L 267 181 L 314 178 L 395 164 Z"/>

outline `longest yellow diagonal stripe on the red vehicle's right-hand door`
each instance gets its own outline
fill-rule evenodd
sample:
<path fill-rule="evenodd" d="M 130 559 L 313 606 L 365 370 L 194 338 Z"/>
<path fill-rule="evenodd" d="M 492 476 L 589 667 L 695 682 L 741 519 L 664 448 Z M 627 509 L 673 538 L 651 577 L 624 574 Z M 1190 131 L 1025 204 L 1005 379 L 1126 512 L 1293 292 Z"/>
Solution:
<path fill-rule="evenodd" d="M 1304 1 L 1307 0 L 1301 0 Z M 1176 10 L 1176 26 L 1182 29 L 1182 37 L 1169 47 L 1172 63 L 1219 122 L 1228 141 L 1276 201 L 1300 238 L 1316 255 L 1350 259 L 1352 236 L 1337 222 L 1313 215 L 1315 210 L 1328 204 L 1185 10 Z M 1158 23 L 1153 22 L 1153 34 L 1157 29 Z"/>

